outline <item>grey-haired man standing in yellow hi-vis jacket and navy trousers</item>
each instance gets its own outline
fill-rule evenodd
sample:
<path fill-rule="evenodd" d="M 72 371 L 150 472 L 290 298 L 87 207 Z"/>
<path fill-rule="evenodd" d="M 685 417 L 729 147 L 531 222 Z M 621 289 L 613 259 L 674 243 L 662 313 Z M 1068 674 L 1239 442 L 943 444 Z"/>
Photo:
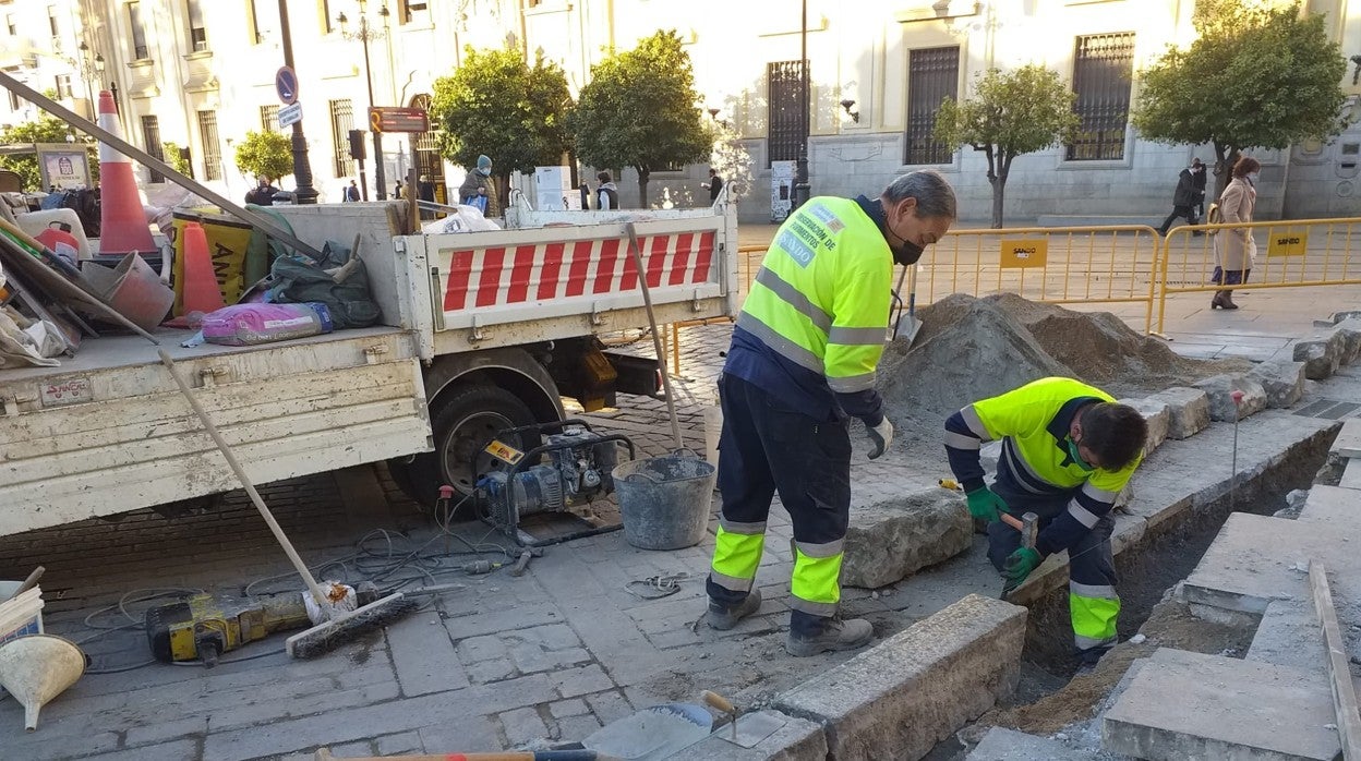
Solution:
<path fill-rule="evenodd" d="M 761 607 L 753 588 L 776 491 L 793 523 L 791 655 L 855 649 L 868 621 L 841 619 L 841 558 L 851 520 L 848 419 L 875 459 L 893 441 L 875 391 L 893 264 L 911 265 L 955 218 L 935 172 L 893 181 L 874 200 L 815 197 L 780 230 L 751 285 L 719 378 L 723 515 L 705 588 L 715 629 Z"/>

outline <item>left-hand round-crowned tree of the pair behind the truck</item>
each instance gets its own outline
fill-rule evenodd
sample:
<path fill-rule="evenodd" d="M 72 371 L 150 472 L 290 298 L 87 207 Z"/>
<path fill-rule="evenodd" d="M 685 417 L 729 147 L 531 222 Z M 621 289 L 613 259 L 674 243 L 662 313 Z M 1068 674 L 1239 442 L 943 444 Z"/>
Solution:
<path fill-rule="evenodd" d="M 437 140 L 444 158 L 470 167 L 482 154 L 491 158 L 504 206 L 510 172 L 562 163 L 572 148 L 570 103 L 566 75 L 542 52 L 531 67 L 510 48 L 467 48 L 463 65 L 436 80 L 430 116 L 442 129 Z"/>

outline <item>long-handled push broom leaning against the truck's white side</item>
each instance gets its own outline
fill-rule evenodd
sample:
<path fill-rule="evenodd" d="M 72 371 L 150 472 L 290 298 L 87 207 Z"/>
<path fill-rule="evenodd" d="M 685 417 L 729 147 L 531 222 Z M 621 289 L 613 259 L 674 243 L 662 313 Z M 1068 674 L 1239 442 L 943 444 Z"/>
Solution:
<path fill-rule="evenodd" d="M 189 389 L 189 384 L 185 383 L 184 376 L 180 374 L 180 369 L 176 366 L 170 355 L 166 354 L 165 349 L 157 350 L 161 354 L 161 361 L 170 370 L 170 377 L 174 378 L 176 385 L 180 387 L 180 392 L 184 393 L 185 399 L 189 400 L 189 406 L 193 407 L 193 412 L 199 415 L 199 421 L 203 422 L 203 427 L 207 429 L 208 436 L 222 451 L 222 456 L 227 459 L 227 464 L 231 467 L 231 472 L 237 474 L 237 479 L 241 481 L 241 486 L 245 487 L 246 494 L 250 496 L 250 501 L 255 502 L 257 511 L 260 511 L 260 517 L 269 525 L 269 531 L 274 532 L 274 538 L 279 540 L 283 551 L 289 555 L 289 561 L 293 562 L 293 568 L 298 569 L 298 574 L 308 584 L 308 591 L 312 592 L 312 598 L 317 600 L 317 606 L 329 618 L 324 624 L 318 624 L 312 629 L 299 632 L 289 637 L 284 644 L 289 655 L 291 658 L 313 658 L 317 655 L 324 655 L 332 648 L 351 641 L 373 629 L 380 629 L 387 624 L 396 621 L 397 618 L 407 615 L 419 607 L 412 599 L 408 599 L 401 592 L 395 592 L 385 598 L 377 599 L 366 606 L 358 607 L 354 611 L 339 611 L 332 604 L 331 598 L 321 591 L 317 580 L 308 570 L 308 565 L 302 562 L 298 557 L 298 551 L 293 549 L 293 542 L 279 527 L 279 521 L 274 519 L 274 513 L 265 506 L 264 500 L 260 493 L 256 491 L 253 483 L 246 476 L 246 471 L 237 462 L 235 455 L 231 453 L 231 448 L 227 447 L 226 440 L 218 433 L 218 426 L 212 425 L 212 418 L 204 411 L 203 406 L 193 396 L 193 391 Z"/>

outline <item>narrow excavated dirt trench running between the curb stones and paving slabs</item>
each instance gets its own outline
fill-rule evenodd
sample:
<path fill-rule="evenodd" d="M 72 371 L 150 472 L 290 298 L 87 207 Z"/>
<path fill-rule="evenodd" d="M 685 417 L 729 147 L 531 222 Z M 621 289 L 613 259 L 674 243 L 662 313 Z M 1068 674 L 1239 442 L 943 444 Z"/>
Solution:
<path fill-rule="evenodd" d="M 1256 625 L 1225 625 L 1192 617 L 1170 591 L 1199 564 L 1219 528 L 1233 512 L 1271 515 L 1286 508 L 1286 494 L 1309 489 L 1337 430 L 1313 436 L 1285 457 L 1252 478 L 1236 493 L 1181 511 L 1150 528 L 1136 543 L 1116 555 L 1123 602 L 1120 640 L 1093 674 L 1074 678 L 1078 660 L 1071 649 L 1067 588 L 1049 592 L 1030 604 L 1021 683 L 1013 698 L 999 704 L 940 742 L 927 761 L 962 761 L 988 727 L 1002 726 L 1028 734 L 1051 735 L 1093 717 L 1135 658 L 1151 653 L 1157 641 L 1207 653 L 1241 658 L 1252 643 Z M 1143 633 L 1147 643 L 1131 644 Z"/>

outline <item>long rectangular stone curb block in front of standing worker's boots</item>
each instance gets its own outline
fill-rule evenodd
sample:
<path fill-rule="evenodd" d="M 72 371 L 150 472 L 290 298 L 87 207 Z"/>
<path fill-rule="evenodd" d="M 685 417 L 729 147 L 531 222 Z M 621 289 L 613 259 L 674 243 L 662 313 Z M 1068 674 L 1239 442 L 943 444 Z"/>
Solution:
<path fill-rule="evenodd" d="M 837 761 L 921 758 L 1015 689 L 1025 624 L 1026 609 L 969 595 L 774 708 L 821 723 Z"/>

